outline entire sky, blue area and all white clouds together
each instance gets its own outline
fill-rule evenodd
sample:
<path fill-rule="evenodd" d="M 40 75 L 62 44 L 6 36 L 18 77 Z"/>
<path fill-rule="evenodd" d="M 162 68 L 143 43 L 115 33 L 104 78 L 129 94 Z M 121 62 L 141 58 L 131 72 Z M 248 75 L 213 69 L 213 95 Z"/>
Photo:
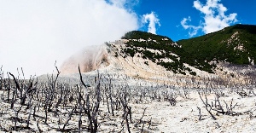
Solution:
<path fill-rule="evenodd" d="M 172 40 L 256 25 L 256 0 L 0 0 L 0 67 L 52 73 L 82 49 L 142 30 Z M 81 57 L 84 58 L 84 57 Z"/>

